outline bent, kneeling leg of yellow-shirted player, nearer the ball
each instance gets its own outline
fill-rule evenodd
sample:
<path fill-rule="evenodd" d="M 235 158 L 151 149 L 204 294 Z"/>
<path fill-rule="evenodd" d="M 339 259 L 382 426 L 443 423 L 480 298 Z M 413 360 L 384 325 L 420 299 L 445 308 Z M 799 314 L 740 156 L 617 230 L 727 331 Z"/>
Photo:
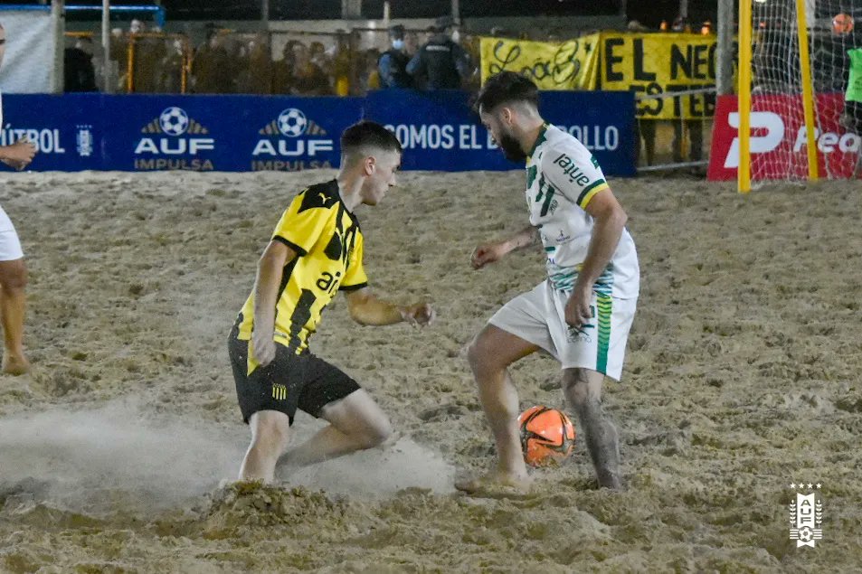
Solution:
<path fill-rule="evenodd" d="M 320 416 L 329 422 L 284 457 L 286 473 L 357 450 L 373 448 L 392 435 L 392 423 L 367 391 L 353 391 L 328 403 Z"/>

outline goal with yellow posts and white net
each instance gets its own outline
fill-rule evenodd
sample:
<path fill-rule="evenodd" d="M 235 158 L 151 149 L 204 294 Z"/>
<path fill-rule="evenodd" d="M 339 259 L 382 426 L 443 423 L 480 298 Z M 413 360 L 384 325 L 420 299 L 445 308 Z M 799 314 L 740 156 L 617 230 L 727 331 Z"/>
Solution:
<path fill-rule="evenodd" d="M 862 174 L 862 119 L 845 105 L 860 32 L 862 3 L 739 0 L 738 85 L 719 105 L 713 177 L 735 175 L 747 193 L 766 181 Z"/>

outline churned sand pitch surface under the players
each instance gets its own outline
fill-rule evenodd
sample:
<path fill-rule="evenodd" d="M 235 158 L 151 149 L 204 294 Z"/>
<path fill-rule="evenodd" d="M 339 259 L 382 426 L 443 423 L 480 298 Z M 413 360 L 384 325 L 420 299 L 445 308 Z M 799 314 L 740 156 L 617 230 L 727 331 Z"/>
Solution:
<path fill-rule="evenodd" d="M 0 572 L 850 572 L 862 564 L 862 189 L 744 197 L 615 180 L 642 269 L 623 384 L 606 391 L 628 490 L 579 441 L 535 492 L 467 497 L 494 450 L 464 346 L 543 278 L 542 253 L 471 249 L 526 225 L 523 174 L 403 174 L 359 216 L 378 295 L 426 329 L 361 327 L 343 298 L 313 350 L 390 414 L 384 448 L 238 487 L 249 432 L 226 335 L 290 198 L 332 172 L 4 174 L 31 269 L 33 373 L 0 377 Z M 512 370 L 563 406 L 556 363 Z M 320 423 L 297 419 L 308 436 Z M 823 539 L 789 540 L 791 483 Z"/>

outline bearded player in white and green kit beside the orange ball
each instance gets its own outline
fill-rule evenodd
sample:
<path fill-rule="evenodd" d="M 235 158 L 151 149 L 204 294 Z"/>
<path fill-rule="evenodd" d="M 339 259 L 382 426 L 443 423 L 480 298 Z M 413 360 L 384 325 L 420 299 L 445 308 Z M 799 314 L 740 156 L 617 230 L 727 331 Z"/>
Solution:
<path fill-rule="evenodd" d="M 567 407 L 580 423 L 599 485 L 619 489 L 619 438 L 602 413 L 602 382 L 605 376 L 620 379 L 638 301 L 638 255 L 625 228 L 628 216 L 590 150 L 539 115 L 531 80 L 510 71 L 492 76 L 477 106 L 507 158 L 526 160 L 530 226 L 479 245 L 470 263 L 483 268 L 510 251 L 541 244 L 548 277 L 497 311 L 470 344 L 470 367 L 499 459 L 488 475 L 456 486 L 476 492 L 528 485 L 517 391 L 507 368 L 545 350 L 563 368 Z"/>

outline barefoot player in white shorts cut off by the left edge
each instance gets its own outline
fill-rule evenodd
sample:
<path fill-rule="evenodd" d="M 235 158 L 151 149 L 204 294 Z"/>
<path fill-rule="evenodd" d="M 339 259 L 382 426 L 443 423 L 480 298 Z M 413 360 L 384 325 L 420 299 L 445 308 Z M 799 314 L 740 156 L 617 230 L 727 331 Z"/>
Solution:
<path fill-rule="evenodd" d="M 0 64 L 6 51 L 6 33 L 0 24 Z M 2 118 L 2 112 L 0 112 Z M 33 161 L 36 147 L 26 140 L 12 146 L 0 146 L 0 161 L 17 170 Z M 13 375 L 30 371 L 30 362 L 24 356 L 24 308 L 27 285 L 27 267 L 24 251 L 14 225 L 0 207 L 0 324 L 3 325 L 3 372 Z"/>

